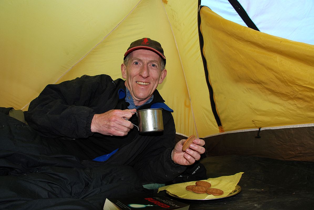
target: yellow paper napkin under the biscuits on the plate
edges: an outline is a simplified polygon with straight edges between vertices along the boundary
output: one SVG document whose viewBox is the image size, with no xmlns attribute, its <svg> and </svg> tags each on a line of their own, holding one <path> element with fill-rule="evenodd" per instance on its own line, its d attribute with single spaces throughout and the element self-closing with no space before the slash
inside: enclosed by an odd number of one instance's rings
<svg viewBox="0 0 314 210">
<path fill-rule="evenodd" d="M 208 195 L 207 193 L 195 193 L 192 191 L 187 191 L 185 189 L 185 187 L 188 185 L 195 185 L 196 181 L 163 186 L 158 189 L 158 192 L 162 190 L 166 190 L 172 195 L 175 195 L 181 198 L 187 198 L 187 199 L 211 199 L 211 198 L 226 197 L 227 195 L 229 195 L 232 191 L 236 189 L 236 185 L 240 181 L 243 173 L 244 172 L 239 172 L 235 175 L 220 176 L 217 178 L 209 178 L 207 180 L 203 180 L 203 181 L 209 182 L 212 185 L 211 188 L 218 188 L 224 191 L 224 194 L 222 194 L 221 196 Z"/>
</svg>

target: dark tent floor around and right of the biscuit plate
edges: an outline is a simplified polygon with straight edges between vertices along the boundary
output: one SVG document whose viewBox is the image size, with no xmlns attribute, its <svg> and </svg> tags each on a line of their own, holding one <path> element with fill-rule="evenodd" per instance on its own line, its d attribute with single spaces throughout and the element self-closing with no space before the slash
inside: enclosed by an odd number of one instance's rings
<svg viewBox="0 0 314 210">
<path fill-rule="evenodd" d="M 285 161 L 252 156 L 213 156 L 201 160 L 208 178 L 244 172 L 235 196 L 208 200 L 179 201 L 190 210 L 313 209 L 314 162 Z M 166 195 L 164 191 L 160 194 Z M 173 198 L 173 197 L 171 197 Z"/>
</svg>

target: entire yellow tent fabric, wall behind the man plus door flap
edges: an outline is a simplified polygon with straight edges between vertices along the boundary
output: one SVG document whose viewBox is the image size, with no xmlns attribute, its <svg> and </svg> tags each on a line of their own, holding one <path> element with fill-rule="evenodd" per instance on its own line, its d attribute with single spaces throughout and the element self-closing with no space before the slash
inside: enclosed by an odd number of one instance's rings
<svg viewBox="0 0 314 210">
<path fill-rule="evenodd" d="M 50 83 L 84 74 L 121 78 L 129 44 L 150 37 L 167 57 L 158 87 L 178 134 L 313 122 L 313 46 L 263 34 L 201 8 L 197 1 L 0 1 L 0 106 L 27 110 Z"/>
</svg>

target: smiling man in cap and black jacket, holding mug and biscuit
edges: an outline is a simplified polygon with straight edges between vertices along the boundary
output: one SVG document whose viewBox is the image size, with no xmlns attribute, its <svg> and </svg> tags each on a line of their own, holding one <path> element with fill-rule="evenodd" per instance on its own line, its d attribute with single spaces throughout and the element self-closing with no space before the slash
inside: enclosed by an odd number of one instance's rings
<svg viewBox="0 0 314 210">
<path fill-rule="evenodd" d="M 204 141 L 194 140 L 191 148 L 185 152 L 181 149 L 184 140 L 173 148 L 175 127 L 170 113 L 172 110 L 163 104 L 164 100 L 156 90 L 167 75 L 165 62 L 164 51 L 159 42 L 149 38 L 136 40 L 127 49 L 124 63 L 121 64 L 125 81 L 113 81 L 107 75 L 85 75 L 73 81 L 48 85 L 30 104 L 27 121 L 43 136 L 76 139 L 71 143 L 64 143 L 64 147 L 81 160 L 109 160 L 119 156 L 118 150 L 128 144 L 143 150 L 140 153 L 128 152 L 129 156 L 139 156 L 147 161 L 146 164 L 167 151 L 171 159 L 163 161 L 169 162 L 170 168 L 180 170 L 171 176 L 165 173 L 163 178 L 174 178 L 185 170 L 181 165 L 190 165 L 200 159 L 200 154 L 204 153 Z M 131 118 L 134 111 L 152 106 L 156 108 L 156 104 L 161 104 L 164 108 L 165 131 L 157 136 L 139 135 L 133 129 L 133 124 L 137 123 L 136 117 Z M 127 121 L 126 118 L 131 120 Z M 130 141 L 140 143 L 129 143 Z M 146 142 L 145 146 L 142 141 Z M 77 151 L 73 151 L 73 148 Z M 154 152 L 145 153 L 144 150 L 149 151 L 149 148 L 153 148 Z M 108 154 L 116 151 L 118 152 L 109 158 Z M 125 161 L 118 162 L 129 164 Z M 132 162 L 132 165 L 136 164 Z M 146 168 L 149 167 L 150 165 Z M 153 180 L 156 173 L 158 174 L 157 171 L 148 170 L 146 173 L 149 175 L 143 176 Z M 167 180 L 156 181 L 164 183 Z"/>
</svg>

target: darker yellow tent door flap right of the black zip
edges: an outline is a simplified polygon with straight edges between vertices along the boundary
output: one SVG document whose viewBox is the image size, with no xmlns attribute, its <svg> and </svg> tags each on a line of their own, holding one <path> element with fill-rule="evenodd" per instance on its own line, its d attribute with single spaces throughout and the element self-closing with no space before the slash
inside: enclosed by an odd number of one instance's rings
<svg viewBox="0 0 314 210">
<path fill-rule="evenodd" d="M 224 131 L 314 122 L 314 46 L 201 10 L 203 52 Z M 205 21 L 203 21 L 205 20 Z"/>
</svg>

